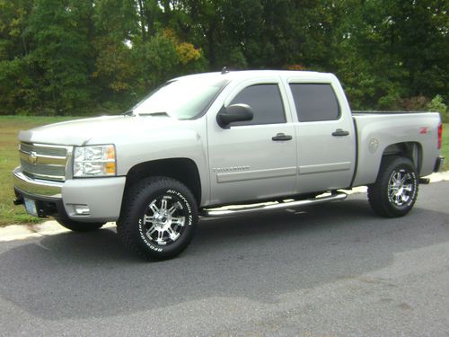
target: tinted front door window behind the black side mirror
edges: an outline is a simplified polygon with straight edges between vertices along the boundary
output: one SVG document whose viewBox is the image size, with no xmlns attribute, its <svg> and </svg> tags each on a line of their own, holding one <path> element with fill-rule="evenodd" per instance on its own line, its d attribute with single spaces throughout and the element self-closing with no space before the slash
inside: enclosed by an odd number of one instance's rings
<svg viewBox="0 0 449 337">
<path fill-rule="evenodd" d="M 231 125 L 259 125 L 285 123 L 284 105 L 277 84 L 256 84 L 244 88 L 234 97 L 231 104 L 248 104 L 254 112 L 249 121 L 234 122 Z"/>
</svg>

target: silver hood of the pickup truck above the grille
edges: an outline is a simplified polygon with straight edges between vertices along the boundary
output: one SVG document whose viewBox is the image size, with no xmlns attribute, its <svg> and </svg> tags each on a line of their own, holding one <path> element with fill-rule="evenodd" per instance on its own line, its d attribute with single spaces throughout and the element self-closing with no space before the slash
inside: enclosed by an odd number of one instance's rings
<svg viewBox="0 0 449 337">
<path fill-rule="evenodd" d="M 105 116 L 70 120 L 19 132 L 19 140 L 28 143 L 83 146 L 112 143 L 113 139 L 138 132 L 179 128 L 181 120 L 163 116 Z"/>
</svg>

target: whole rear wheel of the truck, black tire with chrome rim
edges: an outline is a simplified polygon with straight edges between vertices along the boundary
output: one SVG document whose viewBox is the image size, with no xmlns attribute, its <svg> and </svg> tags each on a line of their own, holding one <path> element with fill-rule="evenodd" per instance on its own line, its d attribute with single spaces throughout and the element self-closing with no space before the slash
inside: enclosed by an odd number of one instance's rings
<svg viewBox="0 0 449 337">
<path fill-rule="evenodd" d="M 368 200 L 374 212 L 383 217 L 403 217 L 418 197 L 415 165 L 401 156 L 384 156 L 377 180 L 368 185 Z"/>
</svg>

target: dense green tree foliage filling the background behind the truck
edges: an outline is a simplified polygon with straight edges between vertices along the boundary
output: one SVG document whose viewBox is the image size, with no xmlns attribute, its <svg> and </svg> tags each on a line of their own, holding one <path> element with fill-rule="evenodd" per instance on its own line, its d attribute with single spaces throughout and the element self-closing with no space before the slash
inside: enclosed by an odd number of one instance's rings
<svg viewBox="0 0 449 337">
<path fill-rule="evenodd" d="M 355 109 L 449 100 L 444 0 L 0 0 L 0 115 L 126 109 L 174 75 L 335 73 Z M 442 101 L 442 102 L 443 102 Z"/>
</svg>

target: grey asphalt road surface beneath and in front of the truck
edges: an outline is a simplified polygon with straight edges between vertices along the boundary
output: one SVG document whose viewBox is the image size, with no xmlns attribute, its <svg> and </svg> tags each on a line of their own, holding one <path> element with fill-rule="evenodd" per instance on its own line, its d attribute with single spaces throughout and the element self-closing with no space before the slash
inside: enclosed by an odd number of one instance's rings
<svg viewBox="0 0 449 337">
<path fill-rule="evenodd" d="M 115 228 L 0 243 L 0 335 L 449 336 L 449 182 L 407 217 L 365 194 L 204 219 L 141 262 Z"/>
</svg>

